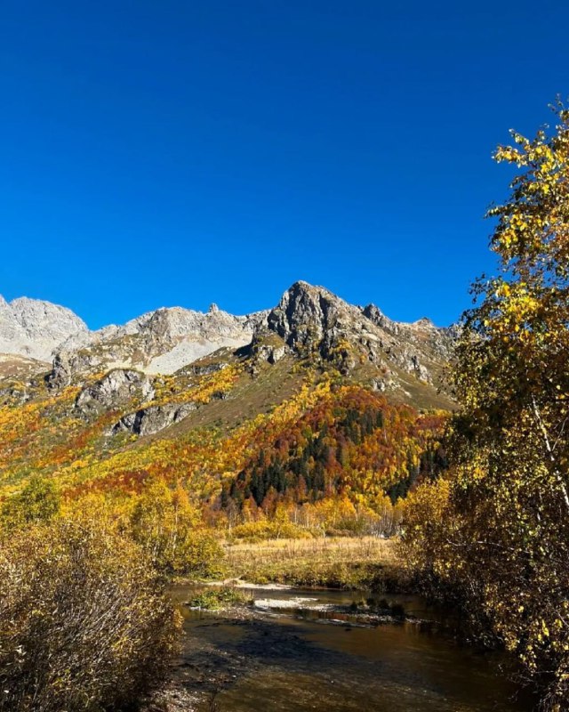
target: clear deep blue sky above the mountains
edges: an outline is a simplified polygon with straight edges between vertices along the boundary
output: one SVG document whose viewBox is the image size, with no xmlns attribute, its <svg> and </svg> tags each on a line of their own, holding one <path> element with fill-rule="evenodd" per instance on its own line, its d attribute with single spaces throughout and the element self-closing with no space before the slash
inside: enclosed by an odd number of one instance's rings
<svg viewBox="0 0 569 712">
<path fill-rule="evenodd" d="M 4 0 L 0 293 L 96 328 L 306 279 L 447 324 L 568 28 L 561 0 Z"/>
</svg>

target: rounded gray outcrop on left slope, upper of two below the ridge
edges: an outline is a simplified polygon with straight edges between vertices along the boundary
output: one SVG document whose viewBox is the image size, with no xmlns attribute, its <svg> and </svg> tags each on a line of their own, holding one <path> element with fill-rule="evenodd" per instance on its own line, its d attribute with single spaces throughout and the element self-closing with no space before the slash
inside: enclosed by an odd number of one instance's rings
<svg viewBox="0 0 569 712">
<path fill-rule="evenodd" d="M 84 388 L 76 397 L 75 406 L 85 417 L 92 417 L 124 405 L 134 397 L 151 401 L 154 394 L 148 376 L 139 371 L 117 369 Z"/>
</svg>

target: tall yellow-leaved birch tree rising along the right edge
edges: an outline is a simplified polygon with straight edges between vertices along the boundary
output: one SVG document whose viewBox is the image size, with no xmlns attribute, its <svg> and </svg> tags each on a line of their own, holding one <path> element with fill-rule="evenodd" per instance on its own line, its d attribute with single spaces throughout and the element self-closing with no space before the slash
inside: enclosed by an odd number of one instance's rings
<svg viewBox="0 0 569 712">
<path fill-rule="evenodd" d="M 407 551 L 458 591 L 569 709 L 569 110 L 554 131 L 512 132 L 494 158 L 517 167 L 494 206 L 499 274 L 463 319 L 453 467 L 411 498 Z M 448 492 L 448 495 L 446 494 Z M 444 495 L 444 502 L 441 499 Z"/>
</svg>

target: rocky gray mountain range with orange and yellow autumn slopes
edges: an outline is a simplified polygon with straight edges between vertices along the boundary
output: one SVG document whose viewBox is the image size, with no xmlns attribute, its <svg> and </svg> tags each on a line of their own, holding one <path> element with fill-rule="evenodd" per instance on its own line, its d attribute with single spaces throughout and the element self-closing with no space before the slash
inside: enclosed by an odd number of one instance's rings
<svg viewBox="0 0 569 712">
<path fill-rule="evenodd" d="M 333 492 L 377 505 L 443 462 L 454 328 L 306 282 L 265 312 L 164 308 L 97 331 L 49 303 L 0 310 L 0 500 L 43 473 L 68 498 L 182 478 L 213 518 Z"/>
</svg>

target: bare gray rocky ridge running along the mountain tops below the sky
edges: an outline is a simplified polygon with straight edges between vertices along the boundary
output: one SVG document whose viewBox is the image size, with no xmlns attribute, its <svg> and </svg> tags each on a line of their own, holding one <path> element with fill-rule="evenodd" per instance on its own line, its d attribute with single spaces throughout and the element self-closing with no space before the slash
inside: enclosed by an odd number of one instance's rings
<svg viewBox="0 0 569 712">
<path fill-rule="evenodd" d="M 345 374 L 371 364 L 374 372 L 365 377 L 378 388 L 400 387 L 405 375 L 438 387 L 456 336 L 456 328 L 437 328 L 426 319 L 390 320 L 374 304 L 354 306 L 307 282 L 293 284 L 267 312 L 233 316 L 214 303 L 206 313 L 164 308 L 93 332 L 63 307 L 0 297 L 0 353 L 24 356 L 39 370 L 52 360 L 47 380 L 56 389 L 109 371 L 168 375 L 221 348 L 245 346 L 256 363 L 276 363 L 292 352 L 333 361 Z M 96 393 L 85 392 L 77 407 L 95 412 L 111 391 L 121 401 L 145 387 L 113 376 Z"/>
</svg>

